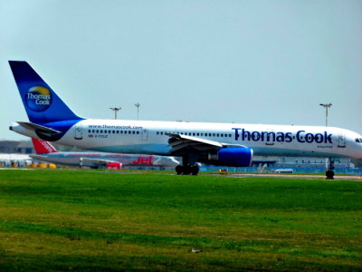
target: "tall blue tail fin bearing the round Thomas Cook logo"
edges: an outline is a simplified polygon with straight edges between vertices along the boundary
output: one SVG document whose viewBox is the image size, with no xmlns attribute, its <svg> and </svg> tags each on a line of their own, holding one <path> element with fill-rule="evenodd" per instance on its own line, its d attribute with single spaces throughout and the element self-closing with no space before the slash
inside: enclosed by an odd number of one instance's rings
<svg viewBox="0 0 362 272">
<path fill-rule="evenodd" d="M 26 62 L 9 61 L 29 121 L 82 120 Z"/>
</svg>

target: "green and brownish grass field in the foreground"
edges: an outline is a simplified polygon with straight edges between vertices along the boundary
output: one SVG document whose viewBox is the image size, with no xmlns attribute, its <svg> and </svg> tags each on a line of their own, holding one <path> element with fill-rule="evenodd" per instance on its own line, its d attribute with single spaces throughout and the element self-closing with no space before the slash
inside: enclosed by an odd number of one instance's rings
<svg viewBox="0 0 362 272">
<path fill-rule="evenodd" d="M 360 271 L 361 222 L 358 181 L 0 170 L 1 271 Z"/>
</svg>

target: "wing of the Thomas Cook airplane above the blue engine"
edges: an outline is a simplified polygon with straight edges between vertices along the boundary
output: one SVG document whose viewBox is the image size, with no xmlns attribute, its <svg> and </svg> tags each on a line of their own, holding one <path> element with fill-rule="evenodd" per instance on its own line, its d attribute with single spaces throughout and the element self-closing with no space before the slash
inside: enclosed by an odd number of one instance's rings
<svg viewBox="0 0 362 272">
<path fill-rule="evenodd" d="M 228 147 L 244 147 L 243 145 L 210 141 L 177 133 L 167 133 L 167 136 L 170 137 L 168 144 L 172 147 L 171 154 L 184 151 L 218 151 Z"/>
</svg>

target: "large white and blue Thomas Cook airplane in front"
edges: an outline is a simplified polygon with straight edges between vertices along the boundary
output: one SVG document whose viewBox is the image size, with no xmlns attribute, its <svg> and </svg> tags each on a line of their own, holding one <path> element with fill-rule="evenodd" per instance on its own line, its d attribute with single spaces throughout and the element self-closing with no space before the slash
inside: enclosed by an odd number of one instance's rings
<svg viewBox="0 0 362 272">
<path fill-rule="evenodd" d="M 197 175 L 197 162 L 247 167 L 252 156 L 362 159 L 362 136 L 336 127 L 97 120 L 80 117 L 24 61 L 9 61 L 29 121 L 11 131 L 91 151 L 182 157 L 177 174 Z"/>
</svg>

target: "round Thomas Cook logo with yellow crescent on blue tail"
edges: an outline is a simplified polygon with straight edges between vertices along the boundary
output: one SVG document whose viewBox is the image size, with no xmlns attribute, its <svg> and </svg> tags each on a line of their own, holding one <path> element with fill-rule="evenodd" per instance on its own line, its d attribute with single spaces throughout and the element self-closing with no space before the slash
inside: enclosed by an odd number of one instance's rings
<svg viewBox="0 0 362 272">
<path fill-rule="evenodd" d="M 34 112 L 44 112 L 52 104 L 52 93 L 43 86 L 34 86 L 25 93 L 25 102 Z"/>
</svg>

